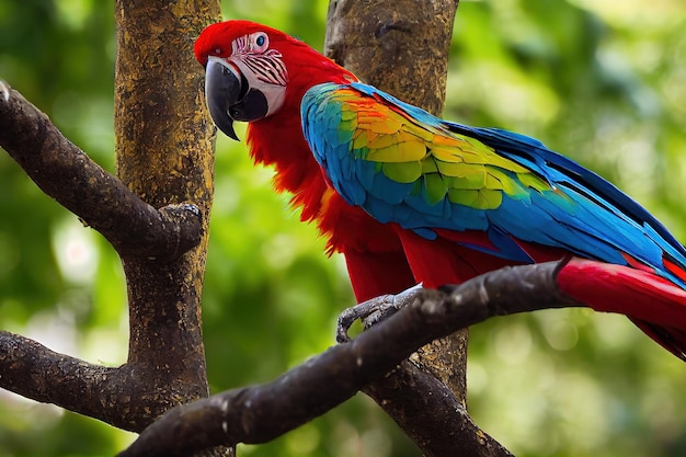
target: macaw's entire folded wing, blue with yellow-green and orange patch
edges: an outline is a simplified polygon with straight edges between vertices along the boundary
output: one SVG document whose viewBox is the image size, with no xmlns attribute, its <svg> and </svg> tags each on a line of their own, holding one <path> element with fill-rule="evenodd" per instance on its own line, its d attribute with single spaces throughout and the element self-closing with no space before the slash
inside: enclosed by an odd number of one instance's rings
<svg viewBox="0 0 686 457">
<path fill-rule="evenodd" d="M 313 87 L 301 117 L 329 182 L 381 222 L 428 239 L 483 231 L 488 243 L 464 244 L 513 262 L 535 261 L 525 247 L 537 243 L 686 279 L 686 252 L 659 221 L 533 138 L 447 123 L 362 83 Z"/>
</svg>

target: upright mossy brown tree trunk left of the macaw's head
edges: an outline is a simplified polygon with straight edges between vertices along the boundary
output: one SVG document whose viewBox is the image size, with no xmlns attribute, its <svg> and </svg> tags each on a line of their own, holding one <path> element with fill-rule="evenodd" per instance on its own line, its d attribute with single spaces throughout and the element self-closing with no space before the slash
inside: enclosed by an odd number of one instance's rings
<svg viewBox="0 0 686 457">
<path fill-rule="evenodd" d="M 205 112 L 203 70 L 193 57 L 193 43 L 218 13 L 217 2 L 202 0 L 115 2 L 117 175 L 153 207 L 192 202 L 203 221 L 199 243 L 171 262 L 122 256 L 129 304 L 128 365 L 155 386 L 138 401 L 148 412 L 146 422 L 208 395 L 201 297 L 215 129 Z"/>
</svg>

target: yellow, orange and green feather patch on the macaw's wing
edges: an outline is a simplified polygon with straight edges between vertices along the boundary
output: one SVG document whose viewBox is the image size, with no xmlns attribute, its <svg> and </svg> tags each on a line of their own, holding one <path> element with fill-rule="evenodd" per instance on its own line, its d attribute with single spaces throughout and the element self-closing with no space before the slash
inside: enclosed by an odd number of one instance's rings
<svg viewBox="0 0 686 457">
<path fill-rule="evenodd" d="M 377 170 L 392 181 L 421 182 L 431 205 L 447 196 L 451 203 L 493 209 L 503 194 L 517 197 L 526 187 L 550 188 L 546 180 L 481 141 L 420 125 L 375 99 L 356 99 L 347 112 L 357 115 L 352 149 L 379 163 Z"/>
</svg>

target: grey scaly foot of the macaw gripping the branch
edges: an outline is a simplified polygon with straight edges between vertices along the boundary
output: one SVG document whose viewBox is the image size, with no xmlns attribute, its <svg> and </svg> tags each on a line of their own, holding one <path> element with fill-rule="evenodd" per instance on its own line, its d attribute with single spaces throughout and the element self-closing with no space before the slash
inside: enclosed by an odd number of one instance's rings
<svg viewBox="0 0 686 457">
<path fill-rule="evenodd" d="M 422 285 L 418 284 L 400 294 L 381 295 L 380 297 L 371 298 L 370 300 L 345 309 L 339 316 L 335 340 L 339 343 L 351 341 L 347 332 L 356 320 L 362 321 L 363 327 L 368 329 L 410 305 L 414 301 L 414 298 L 421 289 Z"/>
</svg>

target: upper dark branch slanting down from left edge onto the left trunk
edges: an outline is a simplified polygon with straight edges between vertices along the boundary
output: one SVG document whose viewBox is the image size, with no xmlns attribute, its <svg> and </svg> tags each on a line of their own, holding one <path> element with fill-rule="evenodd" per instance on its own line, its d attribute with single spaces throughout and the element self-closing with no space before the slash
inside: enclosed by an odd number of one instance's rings
<svg viewBox="0 0 686 457">
<path fill-rule="evenodd" d="M 196 208 L 148 205 L 2 81 L 0 146 L 43 192 L 100 231 L 122 256 L 170 261 L 201 240 Z"/>
</svg>

